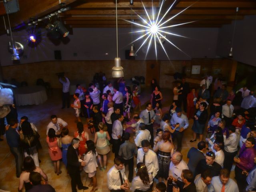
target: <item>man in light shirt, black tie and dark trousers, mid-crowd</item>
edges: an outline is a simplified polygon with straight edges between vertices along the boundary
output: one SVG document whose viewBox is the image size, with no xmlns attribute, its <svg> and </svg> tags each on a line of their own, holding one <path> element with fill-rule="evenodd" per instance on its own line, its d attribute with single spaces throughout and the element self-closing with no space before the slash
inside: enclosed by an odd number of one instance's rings
<svg viewBox="0 0 256 192">
<path fill-rule="evenodd" d="M 150 103 L 146 104 L 146 109 L 140 113 L 140 118 L 143 119 L 146 129 L 150 132 L 150 145 L 154 147 L 154 132 L 153 132 L 153 123 L 156 120 L 156 114 L 152 110 L 152 105 Z"/>
</svg>

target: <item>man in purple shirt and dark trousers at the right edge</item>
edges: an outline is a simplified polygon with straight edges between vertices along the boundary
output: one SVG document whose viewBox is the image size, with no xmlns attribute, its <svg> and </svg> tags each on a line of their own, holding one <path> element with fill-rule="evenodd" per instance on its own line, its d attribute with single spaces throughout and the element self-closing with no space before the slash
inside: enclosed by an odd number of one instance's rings
<svg viewBox="0 0 256 192">
<path fill-rule="evenodd" d="M 243 171 L 250 172 L 254 167 L 254 157 L 256 156 L 254 145 L 255 139 L 253 137 L 247 138 L 240 149 L 238 157 L 234 157 L 234 162 L 236 162 L 235 178 L 239 191 L 243 191 L 246 186 L 246 174 Z"/>
</svg>

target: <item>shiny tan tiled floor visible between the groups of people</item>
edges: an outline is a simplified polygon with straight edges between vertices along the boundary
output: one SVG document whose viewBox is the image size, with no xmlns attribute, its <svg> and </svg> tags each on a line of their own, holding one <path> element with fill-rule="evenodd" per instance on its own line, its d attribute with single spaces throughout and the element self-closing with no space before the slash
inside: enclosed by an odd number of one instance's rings
<svg viewBox="0 0 256 192">
<path fill-rule="evenodd" d="M 172 91 L 171 90 L 162 90 L 163 94 L 163 112 L 167 112 L 170 103 L 172 100 Z M 144 105 L 150 100 L 150 91 L 148 89 L 142 89 L 141 102 Z M 73 100 L 71 100 L 73 102 Z M 142 106 L 144 109 L 144 106 Z M 40 134 L 40 141 L 43 146 L 43 149 L 39 151 L 39 158 L 42 161 L 40 167 L 48 176 L 49 184 L 52 185 L 57 192 L 70 192 L 70 177 L 66 172 L 64 164 L 61 162 L 62 174 L 57 176 L 54 173 L 54 166 L 50 160 L 48 154 L 48 146 L 46 143 L 46 126 L 50 122 L 50 116 L 56 114 L 58 117 L 62 118 L 68 122 L 68 128 L 70 130 L 70 135 L 73 135 L 76 130 L 76 118 L 74 116 L 74 110 L 72 108 L 61 109 L 61 90 L 53 90 L 53 93 L 49 96 L 48 100 L 38 106 L 21 106 L 18 107 L 18 117 L 28 116 L 29 121 L 33 122 L 38 128 Z M 82 118 L 82 122 L 86 124 L 86 119 Z M 193 120 L 190 120 L 190 126 L 185 131 L 184 137 L 182 140 L 182 154 L 183 159 L 186 161 L 186 154 L 188 150 L 194 146 L 196 147 L 196 142 L 190 143 L 189 140 L 192 138 L 192 126 Z M 90 133 L 87 127 L 85 130 L 89 133 L 90 139 L 94 139 L 94 135 Z M 16 178 L 15 170 L 15 160 L 14 156 L 10 153 L 10 149 L 6 143 L 6 138 L 4 136 L 4 141 L 0 142 L 1 153 L 0 153 L 0 189 L 8 190 L 11 192 L 17 191 L 19 179 Z M 108 154 L 108 166 L 106 171 L 97 170 L 97 180 L 98 180 L 98 191 L 107 192 L 107 183 L 106 183 L 106 174 L 107 171 L 113 166 L 114 154 L 110 152 Z M 84 185 L 88 186 L 90 179 L 87 177 L 85 172 L 81 173 L 82 182 Z M 90 189 L 89 189 L 90 190 Z M 86 190 L 86 191 L 89 191 Z M 25 190 L 24 190 L 25 191 Z M 82 190 L 79 190 L 82 191 Z"/>
</svg>

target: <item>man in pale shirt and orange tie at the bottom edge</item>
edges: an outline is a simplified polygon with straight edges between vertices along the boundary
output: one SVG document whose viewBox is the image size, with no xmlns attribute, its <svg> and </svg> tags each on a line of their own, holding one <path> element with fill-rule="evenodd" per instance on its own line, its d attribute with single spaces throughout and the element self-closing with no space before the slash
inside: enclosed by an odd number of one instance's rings
<svg viewBox="0 0 256 192">
<path fill-rule="evenodd" d="M 215 176 L 212 178 L 208 192 L 239 192 L 236 182 L 229 177 L 229 170 L 220 170 L 220 176 Z"/>
</svg>

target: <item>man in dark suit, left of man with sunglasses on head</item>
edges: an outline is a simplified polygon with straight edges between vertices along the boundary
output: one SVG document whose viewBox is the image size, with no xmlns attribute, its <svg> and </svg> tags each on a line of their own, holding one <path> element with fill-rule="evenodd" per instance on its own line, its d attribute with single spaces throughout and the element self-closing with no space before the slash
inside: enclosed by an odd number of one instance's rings
<svg viewBox="0 0 256 192">
<path fill-rule="evenodd" d="M 205 141 L 200 141 L 197 144 L 197 149 L 192 147 L 188 151 L 187 158 L 188 160 L 188 169 L 192 171 L 193 176 L 195 177 L 195 169 L 196 166 L 198 165 L 198 162 L 201 159 L 205 159 L 204 153 L 206 152 L 206 142 Z"/>
</svg>

